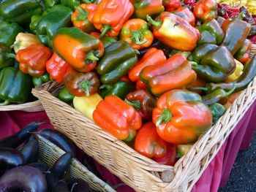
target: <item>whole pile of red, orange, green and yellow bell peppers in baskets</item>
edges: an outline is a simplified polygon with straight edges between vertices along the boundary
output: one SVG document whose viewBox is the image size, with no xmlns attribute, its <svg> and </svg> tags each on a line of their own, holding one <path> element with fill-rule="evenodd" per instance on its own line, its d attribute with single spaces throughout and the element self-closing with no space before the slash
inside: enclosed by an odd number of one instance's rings
<svg viewBox="0 0 256 192">
<path fill-rule="evenodd" d="M 63 83 L 61 101 L 159 164 L 173 166 L 256 74 L 255 23 L 244 8 L 222 18 L 215 0 L 6 0 L 0 15 L 0 105 Z"/>
</svg>

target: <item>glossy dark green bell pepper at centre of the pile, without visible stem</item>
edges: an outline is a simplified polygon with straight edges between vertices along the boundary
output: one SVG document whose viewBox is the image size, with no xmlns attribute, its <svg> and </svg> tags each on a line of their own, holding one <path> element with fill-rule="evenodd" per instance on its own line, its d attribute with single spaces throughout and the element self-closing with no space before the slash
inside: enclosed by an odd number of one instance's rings
<svg viewBox="0 0 256 192">
<path fill-rule="evenodd" d="M 114 42 L 105 48 L 99 60 L 97 73 L 103 84 L 112 84 L 121 79 L 138 61 L 135 51 L 126 41 Z"/>
</svg>

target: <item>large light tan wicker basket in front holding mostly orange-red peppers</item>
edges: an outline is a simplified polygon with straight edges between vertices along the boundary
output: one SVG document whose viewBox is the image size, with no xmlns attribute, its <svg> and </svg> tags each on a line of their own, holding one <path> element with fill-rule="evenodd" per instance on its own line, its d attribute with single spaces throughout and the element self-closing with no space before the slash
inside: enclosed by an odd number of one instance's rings
<svg viewBox="0 0 256 192">
<path fill-rule="evenodd" d="M 252 50 L 255 51 L 255 50 Z M 255 54 L 255 52 L 254 52 Z M 175 166 L 157 164 L 80 112 L 37 88 L 32 93 L 42 102 L 51 123 L 78 147 L 91 155 L 135 191 L 191 191 L 225 139 L 256 99 L 256 77 L 210 130 L 203 134 Z"/>
</svg>

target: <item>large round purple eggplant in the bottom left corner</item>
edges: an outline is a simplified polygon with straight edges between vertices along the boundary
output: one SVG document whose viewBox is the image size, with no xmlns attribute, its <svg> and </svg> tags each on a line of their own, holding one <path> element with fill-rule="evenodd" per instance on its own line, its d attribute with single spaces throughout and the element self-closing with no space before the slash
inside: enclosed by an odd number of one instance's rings
<svg viewBox="0 0 256 192">
<path fill-rule="evenodd" d="M 44 175 L 32 166 L 18 166 L 5 172 L 0 178 L 0 191 L 21 189 L 27 192 L 47 192 Z"/>
</svg>

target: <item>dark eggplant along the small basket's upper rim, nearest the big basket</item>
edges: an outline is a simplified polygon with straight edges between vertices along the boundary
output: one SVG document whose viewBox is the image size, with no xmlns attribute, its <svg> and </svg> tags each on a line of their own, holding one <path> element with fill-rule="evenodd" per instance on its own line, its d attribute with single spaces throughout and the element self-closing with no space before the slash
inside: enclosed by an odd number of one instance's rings
<svg viewBox="0 0 256 192">
<path fill-rule="evenodd" d="M 45 128 L 45 129 L 41 129 L 39 132 L 34 134 L 39 134 L 40 136 L 45 137 L 45 139 L 48 139 L 50 142 L 53 142 L 62 150 L 72 153 L 75 157 L 75 153 L 76 153 L 75 144 L 66 135 L 62 134 L 56 129 L 53 130 L 50 128 Z"/>
</svg>

